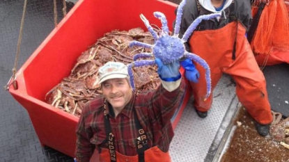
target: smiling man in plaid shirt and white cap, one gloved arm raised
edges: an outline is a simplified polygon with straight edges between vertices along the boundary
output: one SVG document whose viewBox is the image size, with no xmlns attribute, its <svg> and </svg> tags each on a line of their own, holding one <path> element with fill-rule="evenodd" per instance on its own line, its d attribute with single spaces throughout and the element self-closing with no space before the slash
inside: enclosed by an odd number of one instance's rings
<svg viewBox="0 0 289 162">
<path fill-rule="evenodd" d="M 182 102 L 180 63 L 156 58 L 162 85 L 136 95 L 123 63 L 100 67 L 103 94 L 84 107 L 77 126 L 76 161 L 171 161 L 171 118 Z"/>
</svg>

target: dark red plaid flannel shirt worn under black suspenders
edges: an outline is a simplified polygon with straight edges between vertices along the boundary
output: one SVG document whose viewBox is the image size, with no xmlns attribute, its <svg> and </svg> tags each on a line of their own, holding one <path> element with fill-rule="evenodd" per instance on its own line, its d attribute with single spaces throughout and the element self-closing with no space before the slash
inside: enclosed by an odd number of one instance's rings
<svg viewBox="0 0 289 162">
<path fill-rule="evenodd" d="M 185 81 L 169 92 L 159 86 L 157 90 L 141 92 L 133 95 L 130 102 L 115 118 L 107 105 L 111 131 L 115 136 L 116 151 L 126 156 L 135 156 L 136 138 L 139 136 L 132 108 L 135 108 L 139 122 L 146 131 L 150 147 L 157 145 L 163 152 L 169 151 L 169 144 L 173 138 L 171 118 L 180 106 L 185 93 Z M 108 103 L 107 103 L 108 104 Z M 78 162 L 89 161 L 95 148 L 108 148 L 104 127 L 104 97 L 101 95 L 84 107 L 77 125 Z"/>
</svg>

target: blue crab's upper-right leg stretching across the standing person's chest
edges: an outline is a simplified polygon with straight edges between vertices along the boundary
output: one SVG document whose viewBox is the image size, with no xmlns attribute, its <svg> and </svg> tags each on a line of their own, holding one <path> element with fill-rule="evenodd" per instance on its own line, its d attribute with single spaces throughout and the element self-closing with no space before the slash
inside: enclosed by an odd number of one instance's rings
<svg viewBox="0 0 289 162">
<path fill-rule="evenodd" d="M 202 20 L 208 20 L 208 19 L 212 19 L 212 18 L 215 18 L 215 17 L 219 17 L 219 16 L 221 16 L 221 13 L 211 13 L 211 14 L 208 14 L 208 15 L 201 15 L 201 16 L 197 17 L 194 20 L 194 22 L 191 25 L 189 25 L 189 28 L 187 29 L 187 31 L 182 36 L 182 41 L 183 42 L 187 42 L 187 39 L 189 39 L 189 36 L 196 29 L 196 26 L 198 26 L 198 24 L 200 24 L 202 22 Z"/>
</svg>

